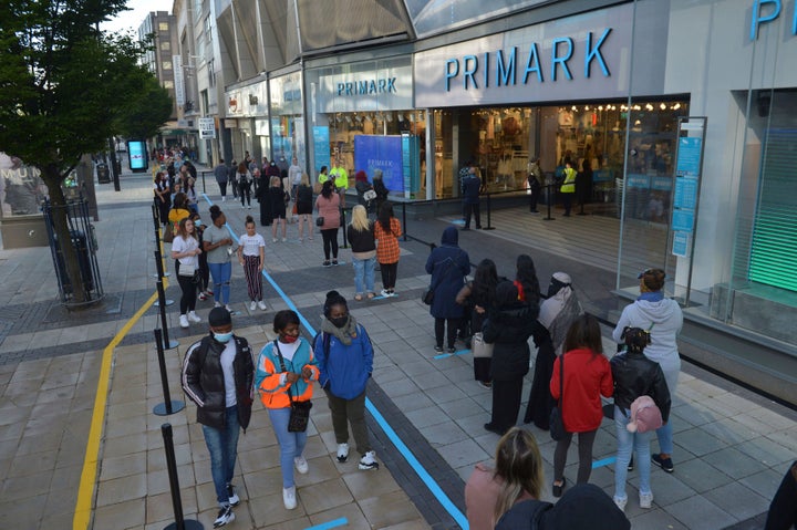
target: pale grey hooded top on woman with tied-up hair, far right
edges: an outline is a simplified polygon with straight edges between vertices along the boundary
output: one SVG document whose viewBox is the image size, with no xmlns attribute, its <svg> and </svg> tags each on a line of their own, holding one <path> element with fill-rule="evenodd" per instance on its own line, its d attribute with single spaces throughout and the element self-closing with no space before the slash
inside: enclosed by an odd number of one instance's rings
<svg viewBox="0 0 797 530">
<path fill-rule="evenodd" d="M 677 302 L 665 298 L 654 302 L 636 300 L 627 305 L 612 332 L 618 344 L 622 343 L 622 331 L 627 326 L 650 332 L 651 343 L 644 350 L 645 357 L 659 363 L 664 372 L 680 370 L 676 336 L 683 326 L 683 312 Z"/>
</svg>

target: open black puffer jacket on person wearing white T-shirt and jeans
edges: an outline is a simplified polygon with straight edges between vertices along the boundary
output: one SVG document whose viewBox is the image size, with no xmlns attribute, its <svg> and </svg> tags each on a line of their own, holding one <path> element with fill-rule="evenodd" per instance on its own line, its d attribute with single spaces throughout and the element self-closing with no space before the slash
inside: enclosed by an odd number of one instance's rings
<svg viewBox="0 0 797 530">
<path fill-rule="evenodd" d="M 251 418 L 251 406 L 255 398 L 252 386 L 255 364 L 247 340 L 235 335 L 230 340 L 235 341 L 236 346 L 232 372 L 238 402 L 238 423 L 246 430 Z M 210 335 L 195 342 L 188 347 L 183 360 L 180 377 L 186 395 L 197 404 L 197 422 L 217 429 L 225 427 L 225 409 L 227 408 L 221 368 L 221 353 L 226 347 L 227 344 L 218 342 Z"/>
</svg>

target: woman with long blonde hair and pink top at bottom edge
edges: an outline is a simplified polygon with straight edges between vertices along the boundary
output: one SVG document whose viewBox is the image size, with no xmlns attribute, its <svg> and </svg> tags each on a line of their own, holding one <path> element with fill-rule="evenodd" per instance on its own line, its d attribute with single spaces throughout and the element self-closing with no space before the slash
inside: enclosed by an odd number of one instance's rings
<svg viewBox="0 0 797 530">
<path fill-rule="evenodd" d="M 470 530 L 491 530 L 516 502 L 539 499 L 542 491 L 542 456 L 531 433 L 507 430 L 498 440 L 495 464 L 477 464 L 465 485 Z"/>
</svg>

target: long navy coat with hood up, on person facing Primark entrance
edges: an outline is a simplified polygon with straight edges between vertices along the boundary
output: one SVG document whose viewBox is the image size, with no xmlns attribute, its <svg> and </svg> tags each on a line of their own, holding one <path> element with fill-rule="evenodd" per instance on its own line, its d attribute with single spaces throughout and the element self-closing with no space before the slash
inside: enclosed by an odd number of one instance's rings
<svg viewBox="0 0 797 530">
<path fill-rule="evenodd" d="M 435 319 L 459 319 L 464 314 L 464 308 L 456 303 L 456 295 L 470 273 L 470 257 L 457 246 L 458 241 L 457 229 L 446 228 L 441 246 L 426 260 L 426 272 L 432 274 L 429 285 L 435 293 L 429 313 Z"/>
</svg>

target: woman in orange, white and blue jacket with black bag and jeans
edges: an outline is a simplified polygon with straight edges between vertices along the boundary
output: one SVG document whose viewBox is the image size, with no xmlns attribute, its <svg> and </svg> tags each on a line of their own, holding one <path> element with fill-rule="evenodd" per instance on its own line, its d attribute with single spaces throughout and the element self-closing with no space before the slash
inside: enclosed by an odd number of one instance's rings
<svg viewBox="0 0 797 530">
<path fill-rule="evenodd" d="M 319 370 L 310 343 L 299 336 L 299 315 L 296 312 L 279 311 L 275 315 L 273 331 L 278 339 L 260 351 L 255 387 L 269 413 L 280 446 L 282 502 L 286 509 L 292 510 L 297 507 L 293 467 L 304 475 L 308 472 L 308 463 L 302 456 L 307 432 L 288 432 L 291 401 L 307 402 L 312 398 L 312 382 L 318 381 Z"/>
</svg>

